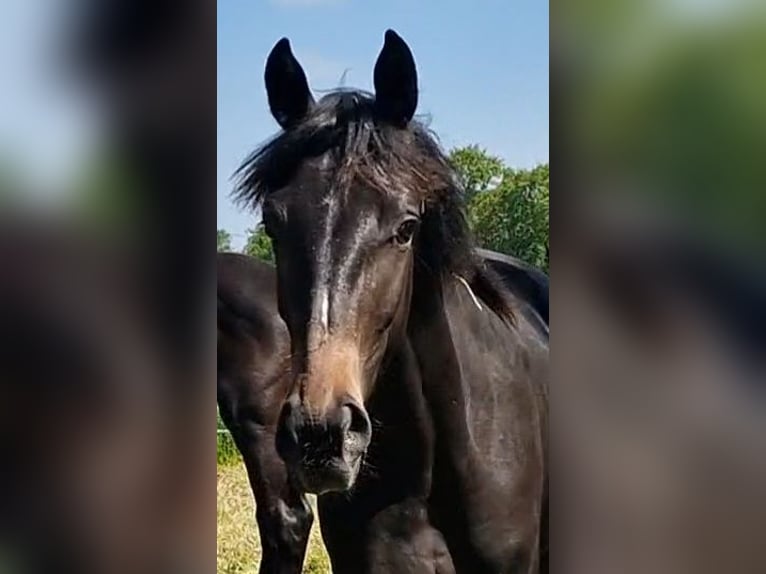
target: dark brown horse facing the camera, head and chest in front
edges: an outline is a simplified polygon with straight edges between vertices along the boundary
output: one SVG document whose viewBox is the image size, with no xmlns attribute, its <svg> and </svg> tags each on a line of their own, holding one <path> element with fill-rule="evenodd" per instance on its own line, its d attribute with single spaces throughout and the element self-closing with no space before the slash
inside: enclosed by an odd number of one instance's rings
<svg viewBox="0 0 766 574">
<path fill-rule="evenodd" d="M 333 572 L 544 569 L 547 340 L 473 251 L 409 46 L 387 30 L 374 93 L 315 101 L 282 38 L 265 83 L 282 130 L 235 195 L 274 245 L 276 451 L 318 495 Z"/>
</svg>

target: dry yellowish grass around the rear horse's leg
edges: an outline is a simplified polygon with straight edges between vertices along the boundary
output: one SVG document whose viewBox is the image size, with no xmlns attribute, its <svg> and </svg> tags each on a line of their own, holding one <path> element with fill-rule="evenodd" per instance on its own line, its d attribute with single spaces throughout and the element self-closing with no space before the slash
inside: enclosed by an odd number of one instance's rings
<svg viewBox="0 0 766 574">
<path fill-rule="evenodd" d="M 257 574 L 261 558 L 255 503 L 247 472 L 239 453 L 221 456 L 219 435 L 218 465 L 218 574 Z M 224 447 L 226 448 L 226 447 Z M 310 497 L 316 516 L 316 499 Z M 319 534 L 319 521 L 314 520 L 309 539 L 305 574 L 330 574 L 330 560 Z"/>
</svg>

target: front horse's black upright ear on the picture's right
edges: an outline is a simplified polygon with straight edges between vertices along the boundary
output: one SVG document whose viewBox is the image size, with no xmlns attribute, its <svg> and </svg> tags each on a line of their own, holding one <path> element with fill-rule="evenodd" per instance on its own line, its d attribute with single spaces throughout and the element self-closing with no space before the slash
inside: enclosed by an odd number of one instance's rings
<svg viewBox="0 0 766 574">
<path fill-rule="evenodd" d="M 418 73 L 409 46 L 393 30 L 386 30 L 373 80 L 378 118 L 405 127 L 418 106 Z"/>
</svg>

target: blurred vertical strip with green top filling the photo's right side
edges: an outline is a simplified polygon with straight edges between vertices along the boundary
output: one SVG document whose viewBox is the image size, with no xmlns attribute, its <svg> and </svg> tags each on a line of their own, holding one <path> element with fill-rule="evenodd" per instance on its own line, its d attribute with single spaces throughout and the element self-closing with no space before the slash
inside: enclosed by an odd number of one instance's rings
<svg viewBox="0 0 766 574">
<path fill-rule="evenodd" d="M 552 10 L 562 572 L 766 571 L 765 16 Z"/>
</svg>

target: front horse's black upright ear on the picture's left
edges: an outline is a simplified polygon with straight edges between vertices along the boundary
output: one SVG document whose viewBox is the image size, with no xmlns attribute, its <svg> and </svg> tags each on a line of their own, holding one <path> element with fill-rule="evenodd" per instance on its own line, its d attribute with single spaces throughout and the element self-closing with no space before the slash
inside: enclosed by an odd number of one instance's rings
<svg viewBox="0 0 766 574">
<path fill-rule="evenodd" d="M 282 129 L 299 123 L 314 104 L 314 97 L 287 38 L 282 38 L 271 49 L 264 79 L 271 115 L 277 123 Z"/>
</svg>

